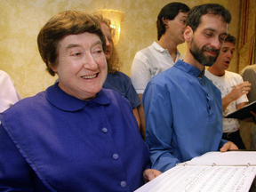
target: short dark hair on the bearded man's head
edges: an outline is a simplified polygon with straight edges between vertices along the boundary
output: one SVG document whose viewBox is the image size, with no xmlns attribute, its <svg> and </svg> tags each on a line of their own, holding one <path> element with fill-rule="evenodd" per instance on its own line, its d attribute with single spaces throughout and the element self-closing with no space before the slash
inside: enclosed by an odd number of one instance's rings
<svg viewBox="0 0 256 192">
<path fill-rule="evenodd" d="M 196 30 L 201 22 L 201 17 L 205 14 L 212 14 L 221 16 L 222 20 L 230 23 L 231 14 L 220 4 L 201 4 L 193 7 L 190 12 L 188 12 L 187 26 Z"/>
</svg>

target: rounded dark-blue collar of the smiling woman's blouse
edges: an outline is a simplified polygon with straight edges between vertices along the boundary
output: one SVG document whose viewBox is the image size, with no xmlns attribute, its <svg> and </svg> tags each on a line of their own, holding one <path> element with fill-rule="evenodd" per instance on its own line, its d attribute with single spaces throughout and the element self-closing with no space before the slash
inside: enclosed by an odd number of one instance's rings
<svg viewBox="0 0 256 192">
<path fill-rule="evenodd" d="M 56 108 L 66 111 L 80 110 L 90 103 L 108 105 L 111 101 L 104 89 L 101 89 L 100 92 L 96 94 L 96 97 L 92 100 L 79 100 L 69 95 L 67 92 L 63 92 L 58 83 L 48 87 L 45 93 L 46 100 L 52 103 L 52 105 L 54 105 Z"/>
</svg>

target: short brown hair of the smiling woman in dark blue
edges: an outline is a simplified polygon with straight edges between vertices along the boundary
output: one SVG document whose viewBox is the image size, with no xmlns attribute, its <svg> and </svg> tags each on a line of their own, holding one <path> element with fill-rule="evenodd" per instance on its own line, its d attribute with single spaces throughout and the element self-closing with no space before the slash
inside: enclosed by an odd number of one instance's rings
<svg viewBox="0 0 256 192">
<path fill-rule="evenodd" d="M 53 16 L 37 36 L 38 49 L 47 71 L 55 76 L 52 67 L 56 66 L 58 59 L 58 45 L 60 40 L 68 35 L 77 35 L 84 32 L 96 34 L 100 37 L 103 51 L 106 49 L 106 40 L 100 23 L 92 15 L 85 12 L 66 11 Z"/>
</svg>

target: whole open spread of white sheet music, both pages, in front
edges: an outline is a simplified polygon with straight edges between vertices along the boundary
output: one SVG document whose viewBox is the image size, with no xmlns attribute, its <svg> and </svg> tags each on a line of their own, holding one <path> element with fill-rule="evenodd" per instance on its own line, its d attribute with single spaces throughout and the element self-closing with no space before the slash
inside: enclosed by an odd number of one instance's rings
<svg viewBox="0 0 256 192">
<path fill-rule="evenodd" d="M 135 192 L 247 192 L 256 175 L 256 152 L 208 152 L 185 164 L 162 173 Z"/>
</svg>

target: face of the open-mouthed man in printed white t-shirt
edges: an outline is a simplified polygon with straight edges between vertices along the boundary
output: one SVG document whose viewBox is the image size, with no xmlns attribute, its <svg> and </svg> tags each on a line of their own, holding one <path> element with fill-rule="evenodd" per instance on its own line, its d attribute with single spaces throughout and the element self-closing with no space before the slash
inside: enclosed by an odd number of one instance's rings
<svg viewBox="0 0 256 192">
<path fill-rule="evenodd" d="M 233 58 L 233 53 L 235 52 L 235 44 L 230 42 L 224 42 L 220 55 L 214 63 L 214 67 L 219 68 L 220 70 L 227 70 L 230 64 L 230 61 Z"/>
</svg>

